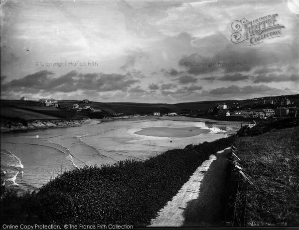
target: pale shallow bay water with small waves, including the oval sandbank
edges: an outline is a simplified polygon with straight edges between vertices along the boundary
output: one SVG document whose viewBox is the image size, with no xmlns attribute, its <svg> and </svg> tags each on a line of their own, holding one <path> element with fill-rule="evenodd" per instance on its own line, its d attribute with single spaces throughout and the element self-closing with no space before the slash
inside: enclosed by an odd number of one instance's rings
<svg viewBox="0 0 299 230">
<path fill-rule="evenodd" d="M 226 137 L 239 128 L 240 122 L 139 117 L 2 133 L 1 182 L 21 193 L 76 167 L 145 160 L 168 149 Z"/>
</svg>

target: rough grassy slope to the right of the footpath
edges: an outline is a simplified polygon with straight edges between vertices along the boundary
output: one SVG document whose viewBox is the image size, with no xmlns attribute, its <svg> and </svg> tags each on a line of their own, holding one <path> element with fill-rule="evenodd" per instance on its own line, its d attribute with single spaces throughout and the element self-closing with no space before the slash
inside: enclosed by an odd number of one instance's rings
<svg viewBox="0 0 299 230">
<path fill-rule="evenodd" d="M 299 127 L 242 137 L 233 174 L 236 226 L 299 226 Z"/>
</svg>

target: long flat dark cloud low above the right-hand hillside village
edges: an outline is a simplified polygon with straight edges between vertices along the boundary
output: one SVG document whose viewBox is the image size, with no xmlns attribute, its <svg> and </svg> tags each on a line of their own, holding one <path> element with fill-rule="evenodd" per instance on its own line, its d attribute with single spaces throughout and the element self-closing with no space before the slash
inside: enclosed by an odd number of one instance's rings
<svg viewBox="0 0 299 230">
<path fill-rule="evenodd" d="M 248 94 L 256 94 L 256 93 L 264 94 L 269 92 L 281 93 L 285 91 L 276 88 L 271 88 L 265 85 L 245 86 L 245 87 L 232 85 L 228 87 L 213 89 L 209 93 L 212 95 L 248 95 Z"/>
</svg>

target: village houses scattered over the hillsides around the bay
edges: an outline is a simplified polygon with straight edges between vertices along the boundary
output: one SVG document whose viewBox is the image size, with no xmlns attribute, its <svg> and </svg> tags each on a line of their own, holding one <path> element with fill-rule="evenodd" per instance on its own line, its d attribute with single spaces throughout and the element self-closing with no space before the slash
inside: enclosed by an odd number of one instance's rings
<svg viewBox="0 0 299 230">
<path fill-rule="evenodd" d="M 23 96 L 20 101 L 29 101 L 26 96 Z M 42 106 L 53 107 L 53 108 L 63 108 L 67 110 L 71 110 L 77 112 L 78 114 L 86 114 L 86 113 L 95 113 L 95 112 L 103 112 L 99 108 L 91 107 L 92 102 L 88 99 L 84 99 L 82 101 L 75 101 L 73 104 L 65 104 L 59 103 L 58 100 L 55 99 L 39 99 L 39 103 Z M 212 103 L 212 102 L 211 102 Z M 63 105 L 62 105 L 63 104 Z M 83 104 L 83 105 L 82 105 Z M 88 105 L 89 104 L 89 105 Z M 200 117 L 200 116 L 230 116 L 230 117 L 245 117 L 245 118 L 260 118 L 266 119 L 269 117 L 282 117 L 282 116 L 297 116 L 299 108 L 298 102 L 292 102 L 287 97 L 274 97 L 274 98 L 257 98 L 250 99 L 249 102 L 244 103 L 243 101 L 228 101 L 227 103 L 216 103 L 214 107 L 209 107 L 205 109 L 184 109 L 179 112 L 174 111 L 149 111 L 143 114 L 136 114 L 130 112 L 125 113 L 120 111 L 120 113 L 112 113 L 111 116 L 143 116 L 143 115 L 153 115 L 153 116 L 192 116 L 192 117 Z"/>
</svg>

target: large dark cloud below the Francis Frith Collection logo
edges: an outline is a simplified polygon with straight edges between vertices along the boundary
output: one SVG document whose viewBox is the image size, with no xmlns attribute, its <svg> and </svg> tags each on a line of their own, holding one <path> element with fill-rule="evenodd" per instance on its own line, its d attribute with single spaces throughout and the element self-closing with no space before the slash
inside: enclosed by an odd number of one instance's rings
<svg viewBox="0 0 299 230">
<path fill-rule="evenodd" d="M 270 71 L 273 68 L 268 69 L 268 65 L 280 65 L 285 63 L 285 60 L 298 60 L 298 57 L 291 53 L 281 54 L 275 50 L 263 52 L 259 47 L 240 48 L 227 46 L 215 53 L 211 58 L 198 53 L 182 56 L 178 61 L 178 65 L 184 67 L 189 74 L 200 75 L 217 70 L 222 70 L 225 73 L 248 72 L 256 67 L 260 68 L 258 71 L 261 72 Z M 261 67 L 264 70 L 261 70 Z"/>
</svg>

